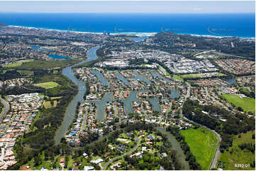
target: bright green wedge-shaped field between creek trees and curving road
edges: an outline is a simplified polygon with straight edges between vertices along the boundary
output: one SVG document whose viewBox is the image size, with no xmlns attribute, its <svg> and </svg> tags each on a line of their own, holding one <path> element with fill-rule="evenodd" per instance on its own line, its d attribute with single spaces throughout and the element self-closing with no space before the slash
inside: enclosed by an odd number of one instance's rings
<svg viewBox="0 0 256 171">
<path fill-rule="evenodd" d="M 218 143 L 216 135 L 204 128 L 182 130 L 180 133 L 185 137 L 201 169 L 208 170 Z"/>
</svg>

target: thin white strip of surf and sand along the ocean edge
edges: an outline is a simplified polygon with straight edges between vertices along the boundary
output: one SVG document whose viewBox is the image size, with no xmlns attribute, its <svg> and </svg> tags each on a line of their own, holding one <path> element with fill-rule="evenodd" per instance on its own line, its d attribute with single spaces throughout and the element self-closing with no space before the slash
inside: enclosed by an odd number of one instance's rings
<svg viewBox="0 0 256 171">
<path fill-rule="evenodd" d="M 26 27 L 26 26 L 20 26 L 20 25 L 7 25 L 9 27 L 15 27 L 15 28 L 27 28 L 27 29 L 40 29 L 40 30 L 52 30 L 52 31 L 59 31 L 59 32 L 72 32 L 72 33 L 79 33 L 79 34 L 96 34 L 96 35 L 103 35 L 104 33 L 97 33 L 97 32 L 81 32 L 81 31 L 68 31 L 68 30 L 57 30 L 57 29 L 50 29 L 50 28 L 33 28 L 33 27 Z M 139 37 L 142 36 L 153 36 L 156 35 L 157 33 L 110 33 L 111 35 L 136 35 Z M 231 36 L 231 35 L 226 35 L 226 36 L 217 36 L 217 35 L 194 35 L 194 34 L 189 34 L 189 33 L 174 33 L 177 35 L 191 35 L 191 36 L 196 36 L 196 37 L 213 37 L 213 38 L 223 38 L 223 37 L 237 37 L 237 36 Z M 238 37 L 240 39 L 254 39 L 255 37 Z"/>
</svg>

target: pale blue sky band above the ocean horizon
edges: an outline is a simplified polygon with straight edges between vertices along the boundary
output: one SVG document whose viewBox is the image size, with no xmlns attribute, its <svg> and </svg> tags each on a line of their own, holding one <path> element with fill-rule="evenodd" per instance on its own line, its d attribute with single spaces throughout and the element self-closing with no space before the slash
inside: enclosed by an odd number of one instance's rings
<svg viewBox="0 0 256 171">
<path fill-rule="evenodd" d="M 0 1 L 18 13 L 255 13 L 255 1 Z"/>
</svg>

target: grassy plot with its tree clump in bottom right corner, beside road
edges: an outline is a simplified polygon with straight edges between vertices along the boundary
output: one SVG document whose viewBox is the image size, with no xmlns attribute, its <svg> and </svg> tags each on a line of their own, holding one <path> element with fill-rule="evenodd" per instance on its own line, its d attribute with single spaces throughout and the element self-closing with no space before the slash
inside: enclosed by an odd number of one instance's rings
<svg viewBox="0 0 256 171">
<path fill-rule="evenodd" d="M 221 153 L 218 167 L 225 170 L 255 170 L 255 131 L 248 131 L 233 138 L 232 146 Z M 235 167 L 235 164 L 243 164 L 244 167 Z"/>
</svg>

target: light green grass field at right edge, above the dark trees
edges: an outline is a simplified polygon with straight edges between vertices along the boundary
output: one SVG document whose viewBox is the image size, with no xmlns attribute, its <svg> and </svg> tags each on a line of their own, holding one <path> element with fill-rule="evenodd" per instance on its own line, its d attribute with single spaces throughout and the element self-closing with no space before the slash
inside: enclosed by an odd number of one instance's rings
<svg viewBox="0 0 256 171">
<path fill-rule="evenodd" d="M 255 114 L 255 99 L 254 98 L 240 98 L 238 95 L 225 94 L 223 98 L 235 107 L 242 107 L 245 112 L 252 112 Z"/>
</svg>

